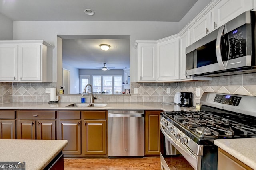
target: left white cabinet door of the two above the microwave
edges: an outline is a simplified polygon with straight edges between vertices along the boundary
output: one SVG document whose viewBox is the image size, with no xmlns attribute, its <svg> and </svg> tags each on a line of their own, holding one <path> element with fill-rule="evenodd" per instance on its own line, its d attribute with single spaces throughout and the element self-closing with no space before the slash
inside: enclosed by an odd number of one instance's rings
<svg viewBox="0 0 256 170">
<path fill-rule="evenodd" d="M 190 43 L 194 43 L 212 31 L 210 12 L 200 18 L 190 28 Z"/>
</svg>

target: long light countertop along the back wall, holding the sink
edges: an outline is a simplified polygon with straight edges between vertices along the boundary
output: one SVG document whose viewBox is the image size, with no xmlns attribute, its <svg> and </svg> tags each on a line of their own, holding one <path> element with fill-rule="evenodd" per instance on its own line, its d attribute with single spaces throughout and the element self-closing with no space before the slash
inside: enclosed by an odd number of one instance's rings
<svg viewBox="0 0 256 170">
<path fill-rule="evenodd" d="M 105 107 L 66 107 L 72 103 L 26 103 L 26 102 L 10 102 L 0 104 L 0 109 L 26 109 L 26 110 L 164 110 L 164 111 L 180 111 L 180 110 L 196 110 L 195 107 L 180 107 L 176 104 L 161 104 L 157 102 L 110 102 Z"/>
</svg>

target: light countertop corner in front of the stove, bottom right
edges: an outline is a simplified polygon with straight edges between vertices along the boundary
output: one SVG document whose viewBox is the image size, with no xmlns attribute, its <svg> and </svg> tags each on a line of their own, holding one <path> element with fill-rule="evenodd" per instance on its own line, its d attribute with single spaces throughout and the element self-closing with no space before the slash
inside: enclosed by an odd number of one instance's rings
<svg viewBox="0 0 256 170">
<path fill-rule="evenodd" d="M 214 144 L 252 169 L 256 169 L 256 137 L 217 139 L 214 140 Z"/>
</svg>

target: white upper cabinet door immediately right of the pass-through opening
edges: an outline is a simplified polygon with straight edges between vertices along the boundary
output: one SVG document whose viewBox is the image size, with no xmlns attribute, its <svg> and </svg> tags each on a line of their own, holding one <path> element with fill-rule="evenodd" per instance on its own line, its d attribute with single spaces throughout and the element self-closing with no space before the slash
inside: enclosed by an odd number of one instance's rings
<svg viewBox="0 0 256 170">
<path fill-rule="evenodd" d="M 138 43 L 137 45 L 137 81 L 156 80 L 156 45 Z"/>
</svg>

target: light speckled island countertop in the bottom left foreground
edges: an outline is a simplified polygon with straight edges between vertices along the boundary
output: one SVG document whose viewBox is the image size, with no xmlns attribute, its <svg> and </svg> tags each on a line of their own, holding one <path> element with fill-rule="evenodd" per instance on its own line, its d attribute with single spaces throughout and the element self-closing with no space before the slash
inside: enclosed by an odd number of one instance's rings
<svg viewBox="0 0 256 170">
<path fill-rule="evenodd" d="M 26 170 L 41 170 L 67 144 L 67 140 L 0 139 L 0 161 L 25 162 Z"/>
</svg>

